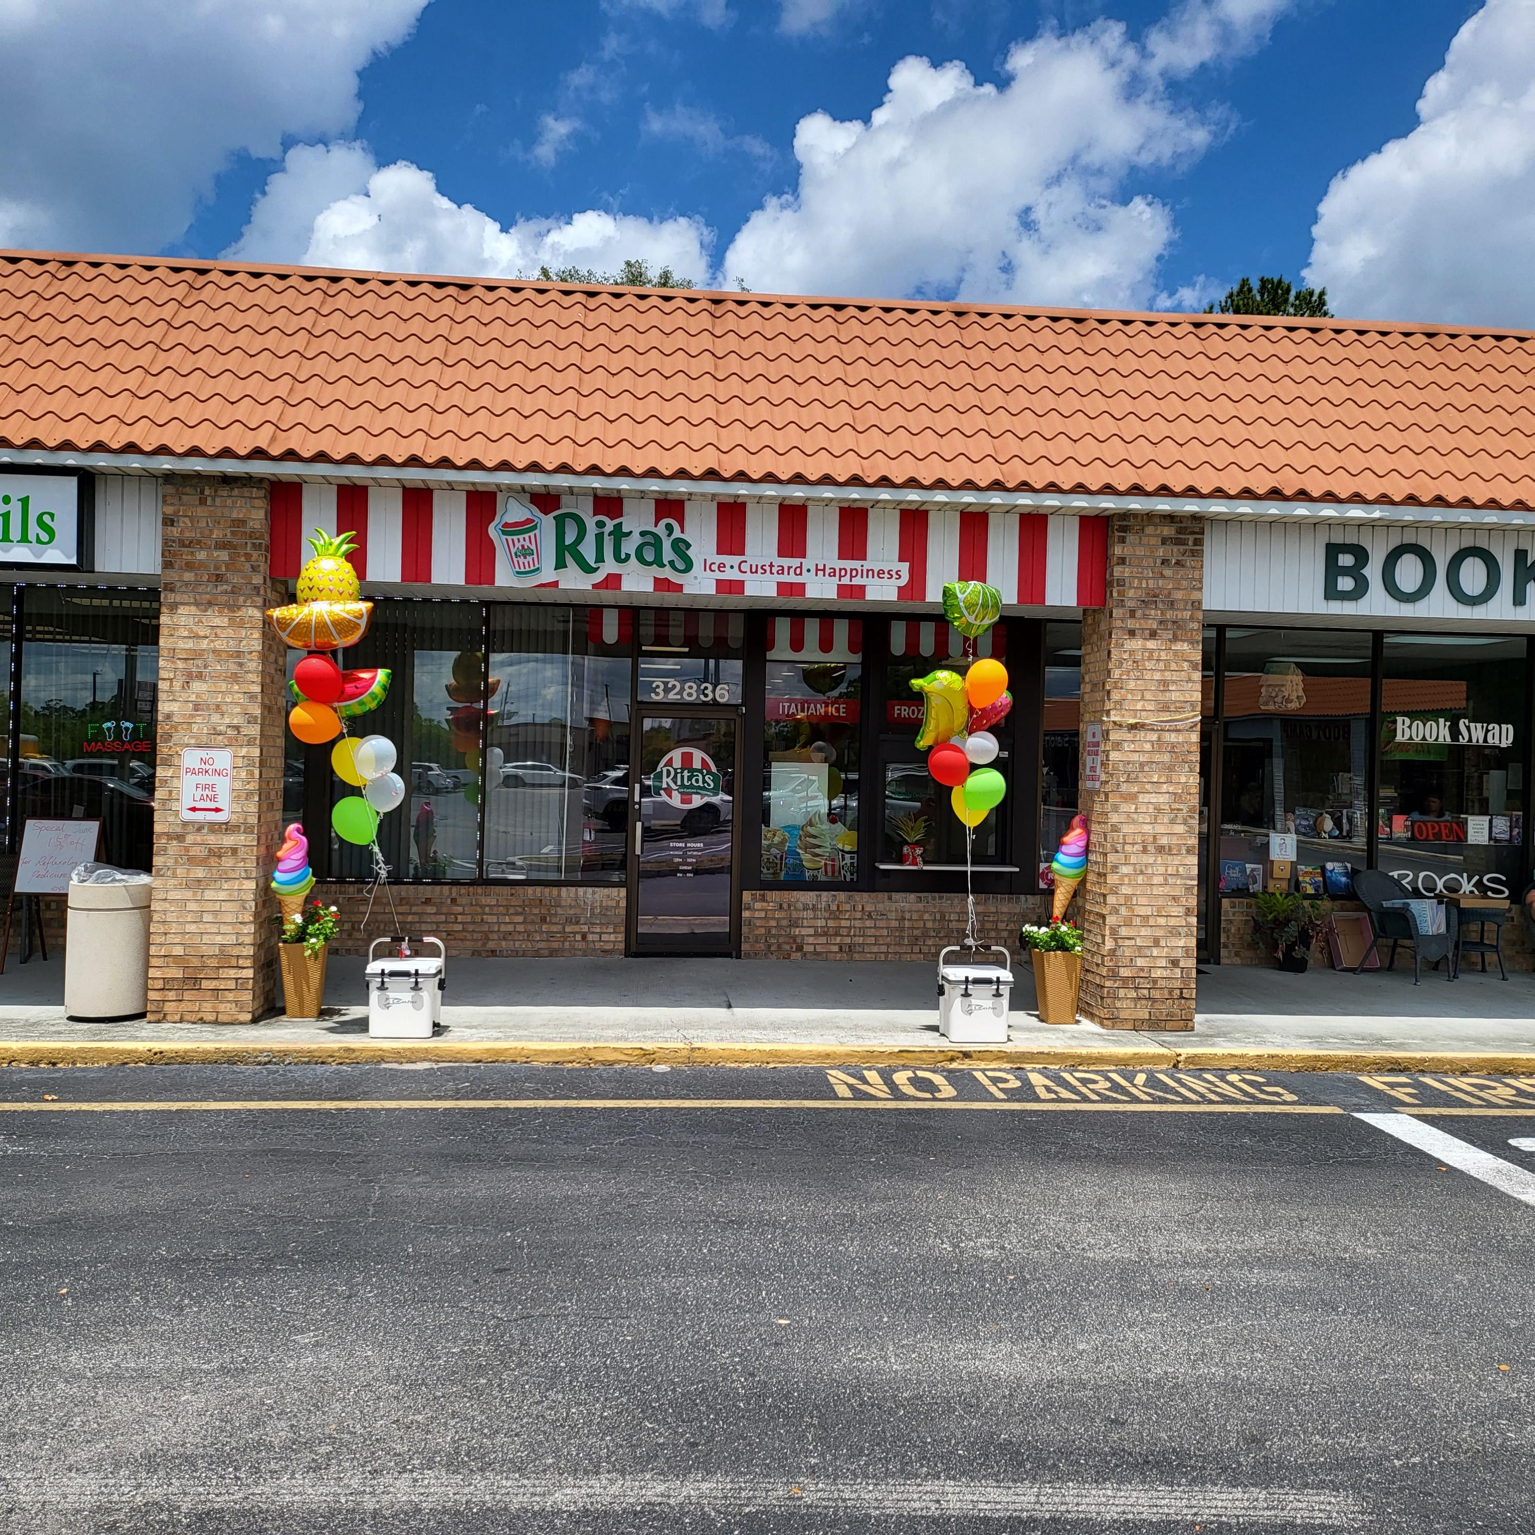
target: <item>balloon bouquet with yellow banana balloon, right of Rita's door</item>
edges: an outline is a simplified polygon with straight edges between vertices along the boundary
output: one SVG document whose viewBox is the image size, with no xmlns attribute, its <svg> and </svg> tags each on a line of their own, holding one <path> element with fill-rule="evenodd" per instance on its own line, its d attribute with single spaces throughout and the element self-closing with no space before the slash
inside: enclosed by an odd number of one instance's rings
<svg viewBox="0 0 1535 1535">
<path fill-rule="evenodd" d="M 970 893 L 975 829 L 1007 795 L 1007 780 L 990 766 L 1001 746 L 992 734 L 1013 708 L 1007 691 L 1007 668 L 976 655 L 976 640 L 1002 612 L 1002 594 L 984 582 L 961 580 L 944 586 L 944 617 L 964 640 L 964 672 L 947 666 L 916 677 L 913 691 L 923 695 L 923 728 L 916 744 L 927 752 L 927 771 L 949 789 L 949 803 L 964 823 L 966 896 L 969 924 L 966 946 L 978 947 L 975 896 Z"/>
</svg>

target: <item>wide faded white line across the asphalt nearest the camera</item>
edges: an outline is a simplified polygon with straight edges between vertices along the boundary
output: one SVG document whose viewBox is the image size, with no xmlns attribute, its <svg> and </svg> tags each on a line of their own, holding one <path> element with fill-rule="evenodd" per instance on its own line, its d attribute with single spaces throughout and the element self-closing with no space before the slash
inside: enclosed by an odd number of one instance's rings
<svg viewBox="0 0 1535 1535">
<path fill-rule="evenodd" d="M 430 1514 L 496 1509 L 525 1514 L 806 1512 L 901 1520 L 1090 1520 L 1102 1524 L 1242 1524 L 1357 1530 L 1368 1506 L 1319 1487 L 1239 1487 L 1102 1481 L 815 1481 L 791 1477 L 497 1477 L 494 1474 L 313 1474 L 302 1478 L 207 1478 L 38 1471 L 0 1474 L 0 1503 L 52 1512 L 173 1509 L 178 1514 L 321 1509 Z"/>
</svg>

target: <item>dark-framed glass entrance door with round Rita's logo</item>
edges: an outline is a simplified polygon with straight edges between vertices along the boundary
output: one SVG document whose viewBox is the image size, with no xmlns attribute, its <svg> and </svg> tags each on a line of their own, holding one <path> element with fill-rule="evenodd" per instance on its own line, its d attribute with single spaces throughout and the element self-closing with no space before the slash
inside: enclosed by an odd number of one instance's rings
<svg viewBox="0 0 1535 1535">
<path fill-rule="evenodd" d="M 645 714 L 629 783 L 629 953 L 731 955 L 737 714 Z"/>
</svg>

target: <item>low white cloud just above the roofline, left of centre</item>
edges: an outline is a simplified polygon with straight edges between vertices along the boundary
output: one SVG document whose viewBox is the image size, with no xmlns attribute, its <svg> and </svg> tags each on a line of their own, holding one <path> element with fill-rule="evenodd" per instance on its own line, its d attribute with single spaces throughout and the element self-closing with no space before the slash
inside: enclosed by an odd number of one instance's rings
<svg viewBox="0 0 1535 1535">
<path fill-rule="evenodd" d="M 333 144 L 289 152 L 227 253 L 464 276 L 528 276 L 542 266 L 612 272 L 634 258 L 701 282 L 711 239 L 692 218 L 649 220 L 597 209 L 502 227 L 477 207 L 444 196 L 416 166 L 398 161 L 379 169 L 362 146 Z"/>
</svg>

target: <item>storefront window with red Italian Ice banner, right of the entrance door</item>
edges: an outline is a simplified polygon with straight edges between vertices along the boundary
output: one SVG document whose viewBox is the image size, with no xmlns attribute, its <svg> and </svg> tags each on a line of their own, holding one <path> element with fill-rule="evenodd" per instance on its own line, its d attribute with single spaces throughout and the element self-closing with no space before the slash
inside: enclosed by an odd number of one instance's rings
<svg viewBox="0 0 1535 1535">
<path fill-rule="evenodd" d="M 761 878 L 858 878 L 863 623 L 772 619 L 763 721 Z"/>
</svg>

